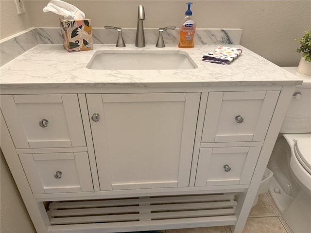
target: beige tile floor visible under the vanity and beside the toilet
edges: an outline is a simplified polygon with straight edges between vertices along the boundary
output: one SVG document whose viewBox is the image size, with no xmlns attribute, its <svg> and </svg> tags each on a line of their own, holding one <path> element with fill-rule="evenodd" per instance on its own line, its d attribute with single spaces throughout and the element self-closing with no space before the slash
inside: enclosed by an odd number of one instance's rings
<svg viewBox="0 0 311 233">
<path fill-rule="evenodd" d="M 165 230 L 163 233 L 231 233 L 227 226 Z M 270 194 L 259 194 L 243 233 L 293 233 L 278 212 Z"/>
</svg>

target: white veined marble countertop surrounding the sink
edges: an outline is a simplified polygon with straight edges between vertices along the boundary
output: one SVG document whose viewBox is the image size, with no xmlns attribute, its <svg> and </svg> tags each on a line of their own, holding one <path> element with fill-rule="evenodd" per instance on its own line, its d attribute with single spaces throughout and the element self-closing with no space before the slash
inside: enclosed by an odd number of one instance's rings
<svg viewBox="0 0 311 233">
<path fill-rule="evenodd" d="M 242 48 L 240 57 L 229 65 L 202 61 L 202 56 L 218 45 L 196 45 L 180 49 L 176 45 L 136 48 L 126 45 L 94 45 L 94 50 L 68 52 L 61 44 L 39 44 L 0 68 L 0 88 L 59 87 L 205 87 L 232 85 L 297 85 L 302 79 Z M 184 50 L 197 65 L 181 70 L 93 70 L 86 68 L 99 50 Z"/>
</svg>

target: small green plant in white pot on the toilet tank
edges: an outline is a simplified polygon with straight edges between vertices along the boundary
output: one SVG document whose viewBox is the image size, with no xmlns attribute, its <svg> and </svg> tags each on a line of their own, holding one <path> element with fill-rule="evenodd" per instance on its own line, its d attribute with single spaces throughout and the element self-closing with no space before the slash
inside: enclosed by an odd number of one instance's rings
<svg viewBox="0 0 311 233">
<path fill-rule="evenodd" d="M 300 44 L 297 52 L 302 52 L 297 71 L 301 74 L 311 75 L 311 31 L 306 31 L 301 39 L 296 39 Z"/>
</svg>

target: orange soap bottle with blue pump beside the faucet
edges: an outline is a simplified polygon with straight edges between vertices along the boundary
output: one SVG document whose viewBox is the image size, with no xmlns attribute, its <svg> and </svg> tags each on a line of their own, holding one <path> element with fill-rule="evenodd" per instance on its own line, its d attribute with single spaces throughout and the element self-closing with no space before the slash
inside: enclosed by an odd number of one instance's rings
<svg viewBox="0 0 311 233">
<path fill-rule="evenodd" d="M 192 12 L 190 11 L 190 5 L 192 2 L 187 2 L 188 10 L 186 11 L 186 17 L 181 21 L 179 27 L 180 42 L 178 44 L 179 48 L 193 48 L 193 37 L 195 33 L 195 22 L 192 18 Z"/>
</svg>

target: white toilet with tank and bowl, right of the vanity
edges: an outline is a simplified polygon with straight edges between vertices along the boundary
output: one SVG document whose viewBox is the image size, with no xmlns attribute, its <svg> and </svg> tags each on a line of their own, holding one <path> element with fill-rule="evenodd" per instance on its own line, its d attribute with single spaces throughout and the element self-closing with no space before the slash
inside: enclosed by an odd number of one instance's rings
<svg viewBox="0 0 311 233">
<path fill-rule="evenodd" d="M 297 86 L 268 163 L 269 193 L 294 233 L 311 233 L 311 76 Z"/>
</svg>

